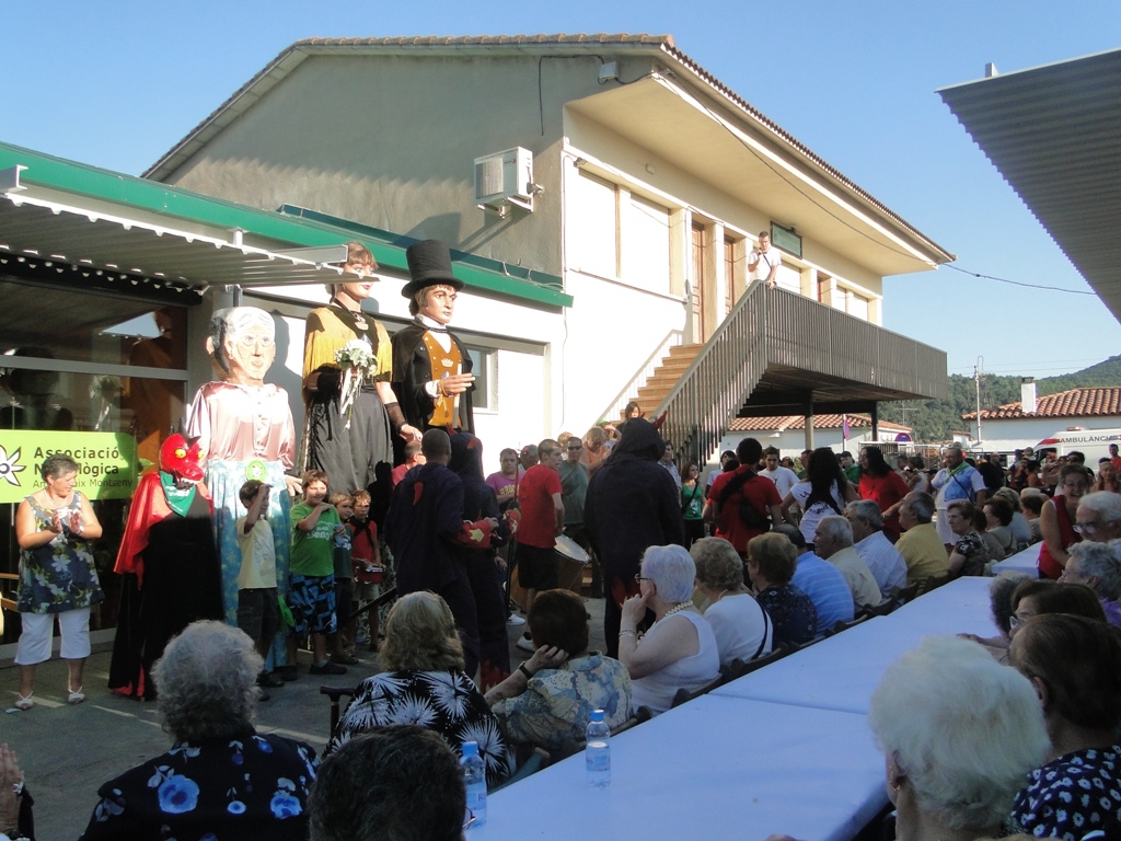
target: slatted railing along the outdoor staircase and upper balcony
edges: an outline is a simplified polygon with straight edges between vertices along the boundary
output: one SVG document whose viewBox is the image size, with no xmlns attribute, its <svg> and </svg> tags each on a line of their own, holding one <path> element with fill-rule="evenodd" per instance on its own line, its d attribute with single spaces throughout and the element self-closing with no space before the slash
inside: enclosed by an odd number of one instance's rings
<svg viewBox="0 0 1121 841">
<path fill-rule="evenodd" d="M 754 281 L 652 414 L 666 413 L 663 435 L 705 463 L 768 366 L 871 386 L 884 399 L 946 394 L 944 352 Z"/>
</svg>

